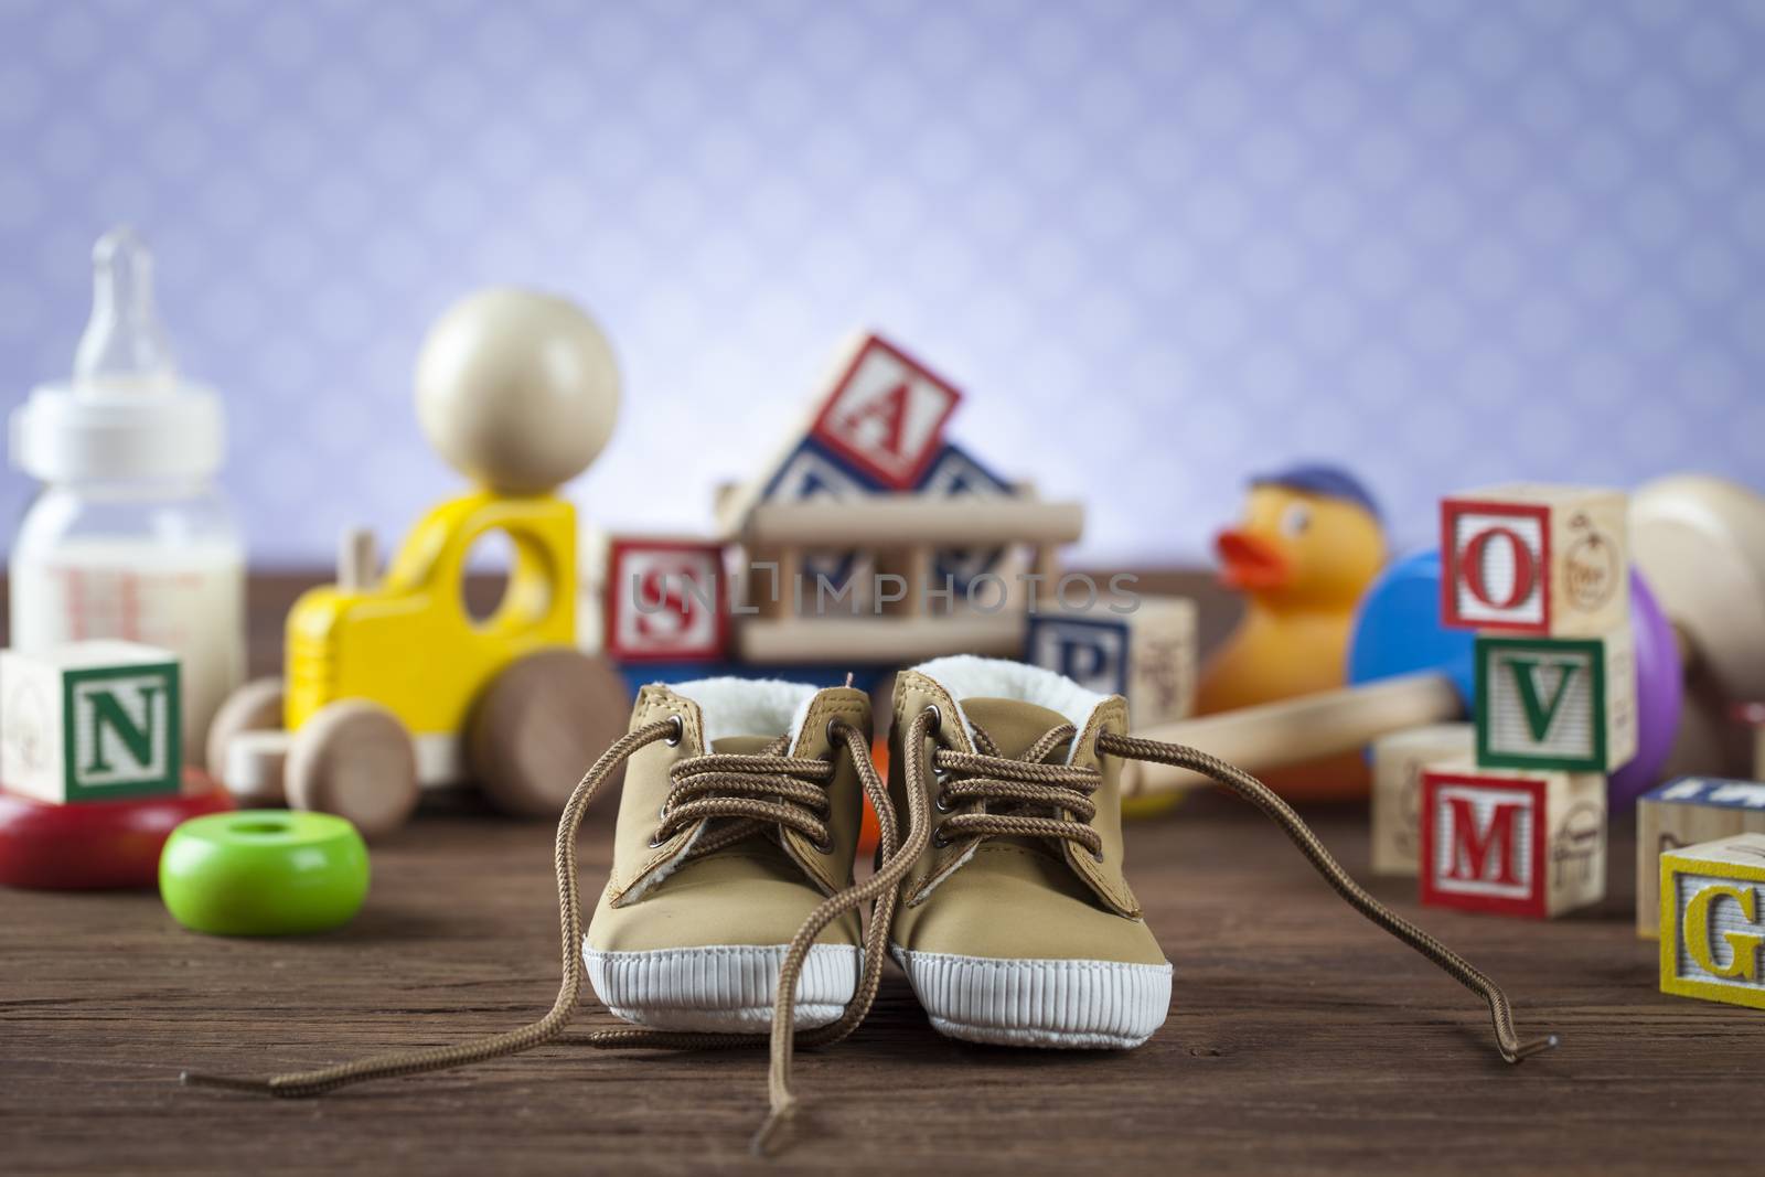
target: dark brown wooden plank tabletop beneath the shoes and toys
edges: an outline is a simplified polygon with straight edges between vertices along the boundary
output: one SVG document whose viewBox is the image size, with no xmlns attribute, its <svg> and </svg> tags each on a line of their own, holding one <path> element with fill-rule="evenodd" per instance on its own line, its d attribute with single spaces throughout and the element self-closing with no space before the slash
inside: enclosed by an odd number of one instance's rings
<svg viewBox="0 0 1765 1177">
<path fill-rule="evenodd" d="M 268 584 L 268 588 L 267 588 Z M 254 586 L 281 602 L 279 582 Z M 272 591 L 274 589 L 274 591 Z M 274 658 L 267 641 L 259 658 Z M 607 866 L 611 799 L 584 835 Z M 1361 879 L 1357 806 L 1310 810 Z M 1663 997 L 1631 930 L 1633 829 L 1611 896 L 1557 923 L 1419 911 L 1507 986 L 1511 1068 L 1476 997 L 1348 911 L 1285 838 L 1223 796 L 1130 835 L 1128 875 L 1175 962 L 1170 1020 L 1128 1053 L 937 1036 L 893 965 L 870 1020 L 800 1055 L 787 1170 L 1760 1172 L 1765 1015 Z M 563 1041 L 466 1071 L 309 1101 L 184 1089 L 180 1068 L 265 1075 L 494 1032 L 556 992 L 551 829 L 439 805 L 376 845 L 348 928 L 300 941 L 182 932 L 154 895 L 0 893 L 0 1170 L 678 1172 L 745 1165 L 764 1052 Z M 574 1038 L 612 1025 L 586 1002 Z"/>
</svg>

